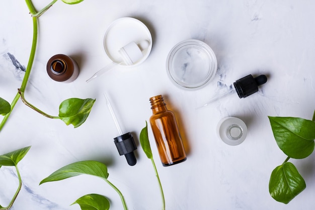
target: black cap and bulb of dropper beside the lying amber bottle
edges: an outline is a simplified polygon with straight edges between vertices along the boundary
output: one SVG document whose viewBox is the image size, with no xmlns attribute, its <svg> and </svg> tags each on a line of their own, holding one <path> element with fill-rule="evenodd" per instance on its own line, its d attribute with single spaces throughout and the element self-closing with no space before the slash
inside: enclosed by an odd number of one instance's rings
<svg viewBox="0 0 315 210">
<path fill-rule="evenodd" d="M 137 149 L 134 143 L 133 136 L 130 132 L 122 134 L 114 138 L 114 143 L 117 147 L 119 155 L 124 155 L 128 164 L 134 166 L 137 163 L 137 159 L 134 156 L 133 151 Z"/>
</svg>

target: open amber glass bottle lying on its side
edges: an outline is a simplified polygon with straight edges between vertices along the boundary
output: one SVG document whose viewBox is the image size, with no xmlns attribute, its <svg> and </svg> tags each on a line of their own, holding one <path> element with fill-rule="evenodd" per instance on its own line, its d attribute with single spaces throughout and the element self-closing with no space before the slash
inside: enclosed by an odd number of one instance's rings
<svg viewBox="0 0 315 210">
<path fill-rule="evenodd" d="M 175 115 L 168 110 L 162 95 L 150 98 L 153 115 L 150 124 L 163 166 L 185 161 L 186 153 Z"/>
</svg>

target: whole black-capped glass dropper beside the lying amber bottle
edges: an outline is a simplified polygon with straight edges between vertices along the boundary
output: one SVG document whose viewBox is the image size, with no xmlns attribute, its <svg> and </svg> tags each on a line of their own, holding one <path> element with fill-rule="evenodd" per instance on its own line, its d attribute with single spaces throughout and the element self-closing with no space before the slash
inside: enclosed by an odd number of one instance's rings
<svg viewBox="0 0 315 210">
<path fill-rule="evenodd" d="M 115 116 L 115 113 L 113 111 L 113 108 L 111 106 L 111 103 L 110 103 L 107 95 L 104 94 L 104 96 L 106 99 L 106 104 L 108 106 L 108 109 L 111 112 L 112 118 L 113 118 L 115 125 L 116 125 L 116 128 L 119 132 L 119 136 L 114 138 L 115 146 L 118 150 L 119 155 L 120 156 L 124 155 L 126 160 L 127 160 L 127 163 L 130 166 L 134 166 L 137 163 L 137 159 L 136 159 L 133 151 L 137 149 L 137 146 L 134 142 L 132 133 L 130 133 L 130 132 L 127 132 L 125 134 L 122 133 L 120 126 L 118 124 L 117 118 Z"/>
</svg>

